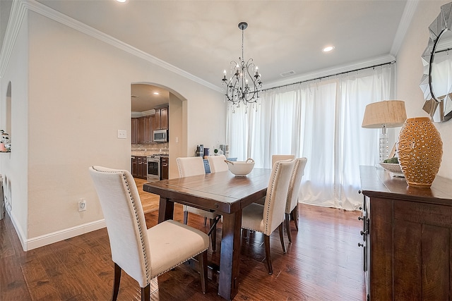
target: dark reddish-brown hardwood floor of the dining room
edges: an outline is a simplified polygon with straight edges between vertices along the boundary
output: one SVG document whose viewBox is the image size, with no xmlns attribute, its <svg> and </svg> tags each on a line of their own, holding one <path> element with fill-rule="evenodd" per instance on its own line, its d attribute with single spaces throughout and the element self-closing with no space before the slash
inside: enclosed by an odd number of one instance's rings
<svg viewBox="0 0 452 301">
<path fill-rule="evenodd" d="M 142 190 L 141 190 L 142 192 Z M 147 193 L 147 192 L 143 192 Z M 292 223 L 292 243 L 283 254 L 278 231 L 270 239 L 273 275 L 268 275 L 263 236 L 242 238 L 239 293 L 234 300 L 365 300 L 359 212 L 299 206 L 299 232 Z M 158 211 L 145 214 L 148 227 Z M 182 206 L 174 219 L 182 221 Z M 189 216 L 189 225 L 208 231 L 203 219 Z M 220 258 L 221 223 L 217 252 Z M 52 245 L 23 252 L 11 219 L 0 221 L 0 300 L 110 300 L 113 263 L 107 230 L 100 229 Z M 203 295 L 196 271 L 188 265 L 153 279 L 152 300 L 223 300 L 217 276 Z M 124 272 L 118 300 L 140 300 L 136 281 Z"/>
</svg>

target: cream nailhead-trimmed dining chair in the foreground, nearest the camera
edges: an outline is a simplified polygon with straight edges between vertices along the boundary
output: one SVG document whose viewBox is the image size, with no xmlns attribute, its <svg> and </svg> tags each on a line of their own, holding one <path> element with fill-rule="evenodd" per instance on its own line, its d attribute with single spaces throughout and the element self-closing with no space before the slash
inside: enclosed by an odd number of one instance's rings
<svg viewBox="0 0 452 301">
<path fill-rule="evenodd" d="M 201 287 L 207 288 L 208 235 L 177 221 L 146 228 L 135 181 L 129 171 L 89 168 L 100 200 L 114 262 L 112 300 L 117 300 L 121 271 L 141 287 L 141 300 L 150 300 L 151 279 L 191 257 L 200 263 Z"/>
</svg>

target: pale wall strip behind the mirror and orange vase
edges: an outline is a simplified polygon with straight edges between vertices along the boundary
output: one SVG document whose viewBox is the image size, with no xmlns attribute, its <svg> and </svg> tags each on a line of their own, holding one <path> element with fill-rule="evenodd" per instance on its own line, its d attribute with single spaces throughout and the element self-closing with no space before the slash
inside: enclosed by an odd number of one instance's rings
<svg viewBox="0 0 452 301">
<path fill-rule="evenodd" d="M 421 56 L 429 40 L 429 25 L 439 15 L 441 5 L 450 1 L 419 1 L 415 15 L 397 55 L 396 98 L 405 100 L 407 116 L 428 116 L 422 110 L 424 97 L 419 84 L 423 74 Z M 435 123 L 443 140 L 439 176 L 452 178 L 452 121 Z"/>
</svg>

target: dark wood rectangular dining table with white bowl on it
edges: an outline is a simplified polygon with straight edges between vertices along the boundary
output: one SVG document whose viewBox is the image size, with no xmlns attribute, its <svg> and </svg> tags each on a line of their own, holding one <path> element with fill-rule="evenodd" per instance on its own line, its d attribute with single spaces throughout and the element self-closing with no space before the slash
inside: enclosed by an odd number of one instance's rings
<svg viewBox="0 0 452 301">
<path fill-rule="evenodd" d="M 271 169 L 254 168 L 246 177 L 230 171 L 145 183 L 160 195 L 158 221 L 173 218 L 174 202 L 215 211 L 223 216 L 218 295 L 232 300 L 239 288 L 242 209 L 266 196 Z"/>
</svg>

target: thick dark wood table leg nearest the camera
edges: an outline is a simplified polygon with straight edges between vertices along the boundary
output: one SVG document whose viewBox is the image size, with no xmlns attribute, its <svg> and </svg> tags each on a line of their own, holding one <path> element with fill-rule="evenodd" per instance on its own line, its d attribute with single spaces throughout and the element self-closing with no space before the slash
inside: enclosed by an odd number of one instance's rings
<svg viewBox="0 0 452 301">
<path fill-rule="evenodd" d="M 218 295 L 232 300 L 239 290 L 242 210 L 223 215 Z"/>
</svg>

